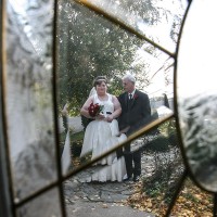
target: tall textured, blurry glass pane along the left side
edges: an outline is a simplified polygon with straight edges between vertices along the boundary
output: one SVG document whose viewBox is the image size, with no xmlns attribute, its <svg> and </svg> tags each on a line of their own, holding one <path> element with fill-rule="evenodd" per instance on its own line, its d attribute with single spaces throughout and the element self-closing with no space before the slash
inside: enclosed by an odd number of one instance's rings
<svg viewBox="0 0 217 217">
<path fill-rule="evenodd" d="M 4 97 L 16 199 L 56 179 L 52 9 L 52 1 L 7 1 Z"/>
</svg>

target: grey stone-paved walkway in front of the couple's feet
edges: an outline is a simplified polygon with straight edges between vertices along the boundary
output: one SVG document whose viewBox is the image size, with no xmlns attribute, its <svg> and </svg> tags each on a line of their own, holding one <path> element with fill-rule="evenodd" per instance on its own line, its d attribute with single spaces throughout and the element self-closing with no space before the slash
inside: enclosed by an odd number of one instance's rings
<svg viewBox="0 0 217 217">
<path fill-rule="evenodd" d="M 148 174 L 149 168 L 151 165 L 146 165 L 142 174 Z M 88 173 L 82 171 L 64 184 L 68 217 L 154 217 L 126 204 L 126 200 L 136 193 L 133 182 L 81 182 Z"/>
</svg>

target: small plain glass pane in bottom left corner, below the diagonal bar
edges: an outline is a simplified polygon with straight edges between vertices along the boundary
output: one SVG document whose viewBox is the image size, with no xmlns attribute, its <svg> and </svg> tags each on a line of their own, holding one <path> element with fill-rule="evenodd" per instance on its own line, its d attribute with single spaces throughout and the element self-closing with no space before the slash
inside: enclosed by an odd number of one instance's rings
<svg viewBox="0 0 217 217">
<path fill-rule="evenodd" d="M 17 208 L 20 217 L 61 217 L 59 190 L 53 189 Z"/>
</svg>

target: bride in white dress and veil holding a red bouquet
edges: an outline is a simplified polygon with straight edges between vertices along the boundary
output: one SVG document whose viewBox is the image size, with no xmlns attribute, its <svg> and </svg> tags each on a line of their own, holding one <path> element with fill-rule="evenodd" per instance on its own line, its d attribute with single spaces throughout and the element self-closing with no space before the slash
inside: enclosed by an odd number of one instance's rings
<svg viewBox="0 0 217 217">
<path fill-rule="evenodd" d="M 120 115 L 122 107 L 117 98 L 106 92 L 106 79 L 103 76 L 99 76 L 93 85 L 95 93 L 88 98 L 80 110 L 81 115 L 93 119 L 86 128 L 80 157 L 92 153 L 91 158 L 94 158 L 111 150 L 114 145 L 127 140 L 125 135 L 117 137 L 119 129 L 116 118 Z M 103 110 L 95 117 L 92 117 L 88 111 L 91 103 L 103 105 Z M 125 158 L 124 156 L 117 158 L 115 152 L 102 158 L 97 164 L 104 166 L 92 174 L 86 180 L 87 182 L 123 181 L 123 179 L 127 178 Z"/>
</svg>

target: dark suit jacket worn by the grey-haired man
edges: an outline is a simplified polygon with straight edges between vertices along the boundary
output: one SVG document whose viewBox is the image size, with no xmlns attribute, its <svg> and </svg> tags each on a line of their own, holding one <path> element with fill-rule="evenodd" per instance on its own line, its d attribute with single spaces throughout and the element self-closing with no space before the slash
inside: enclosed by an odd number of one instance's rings
<svg viewBox="0 0 217 217">
<path fill-rule="evenodd" d="M 119 130 L 130 126 L 130 129 L 126 133 L 129 136 L 149 124 L 151 106 L 148 94 L 136 90 L 131 105 L 129 105 L 127 92 L 120 94 L 118 100 L 122 105 L 122 114 L 118 117 Z"/>
</svg>

